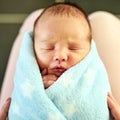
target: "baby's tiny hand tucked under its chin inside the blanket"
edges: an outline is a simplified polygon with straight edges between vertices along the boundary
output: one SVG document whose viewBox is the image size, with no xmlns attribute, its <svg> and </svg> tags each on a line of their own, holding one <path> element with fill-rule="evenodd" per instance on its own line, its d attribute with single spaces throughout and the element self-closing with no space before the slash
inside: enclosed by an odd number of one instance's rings
<svg viewBox="0 0 120 120">
<path fill-rule="evenodd" d="M 48 74 L 48 70 L 45 68 L 42 70 L 42 78 L 45 89 L 52 85 L 56 80 L 57 76 L 54 74 Z"/>
</svg>

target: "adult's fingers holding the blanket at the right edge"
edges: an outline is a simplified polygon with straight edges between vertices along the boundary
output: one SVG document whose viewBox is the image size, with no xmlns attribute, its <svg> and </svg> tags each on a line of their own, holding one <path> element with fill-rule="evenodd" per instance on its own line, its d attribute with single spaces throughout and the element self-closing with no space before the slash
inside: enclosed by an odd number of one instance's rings
<svg viewBox="0 0 120 120">
<path fill-rule="evenodd" d="M 120 120 L 120 105 L 110 93 L 108 93 L 107 102 L 114 119 Z"/>
</svg>

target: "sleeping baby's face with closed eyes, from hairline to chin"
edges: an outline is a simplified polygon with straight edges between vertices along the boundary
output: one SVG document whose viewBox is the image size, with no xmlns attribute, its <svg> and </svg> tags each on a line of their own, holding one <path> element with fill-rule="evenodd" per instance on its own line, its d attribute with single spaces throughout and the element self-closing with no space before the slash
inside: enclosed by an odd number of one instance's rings
<svg viewBox="0 0 120 120">
<path fill-rule="evenodd" d="M 49 74 L 60 76 L 81 61 L 90 50 L 88 26 L 74 17 L 49 17 L 35 28 L 34 47 L 38 64 Z"/>
</svg>

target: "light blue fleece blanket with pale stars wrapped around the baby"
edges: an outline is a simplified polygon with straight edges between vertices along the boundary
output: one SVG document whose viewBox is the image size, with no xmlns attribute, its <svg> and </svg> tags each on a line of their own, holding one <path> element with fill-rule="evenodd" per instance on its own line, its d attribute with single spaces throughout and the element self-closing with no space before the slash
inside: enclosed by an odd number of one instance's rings
<svg viewBox="0 0 120 120">
<path fill-rule="evenodd" d="M 94 41 L 82 61 L 44 89 L 32 36 L 29 32 L 23 37 L 9 120 L 109 120 L 110 86 Z"/>
</svg>

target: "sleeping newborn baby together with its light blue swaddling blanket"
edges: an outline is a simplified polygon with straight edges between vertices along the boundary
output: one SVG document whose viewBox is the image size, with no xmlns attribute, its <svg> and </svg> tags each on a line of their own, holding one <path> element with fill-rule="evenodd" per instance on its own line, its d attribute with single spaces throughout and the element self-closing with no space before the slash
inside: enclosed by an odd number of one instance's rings
<svg viewBox="0 0 120 120">
<path fill-rule="evenodd" d="M 22 40 L 9 120 L 109 120 L 109 91 L 85 12 L 44 9 Z"/>
</svg>

